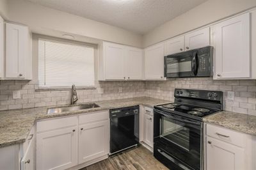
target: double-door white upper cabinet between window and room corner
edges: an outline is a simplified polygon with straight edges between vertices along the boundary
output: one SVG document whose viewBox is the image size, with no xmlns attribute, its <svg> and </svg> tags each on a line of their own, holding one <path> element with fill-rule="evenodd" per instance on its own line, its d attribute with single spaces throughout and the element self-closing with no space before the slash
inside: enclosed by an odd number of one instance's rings
<svg viewBox="0 0 256 170">
<path fill-rule="evenodd" d="M 143 50 L 103 42 L 99 56 L 99 80 L 142 80 Z"/>
</svg>

